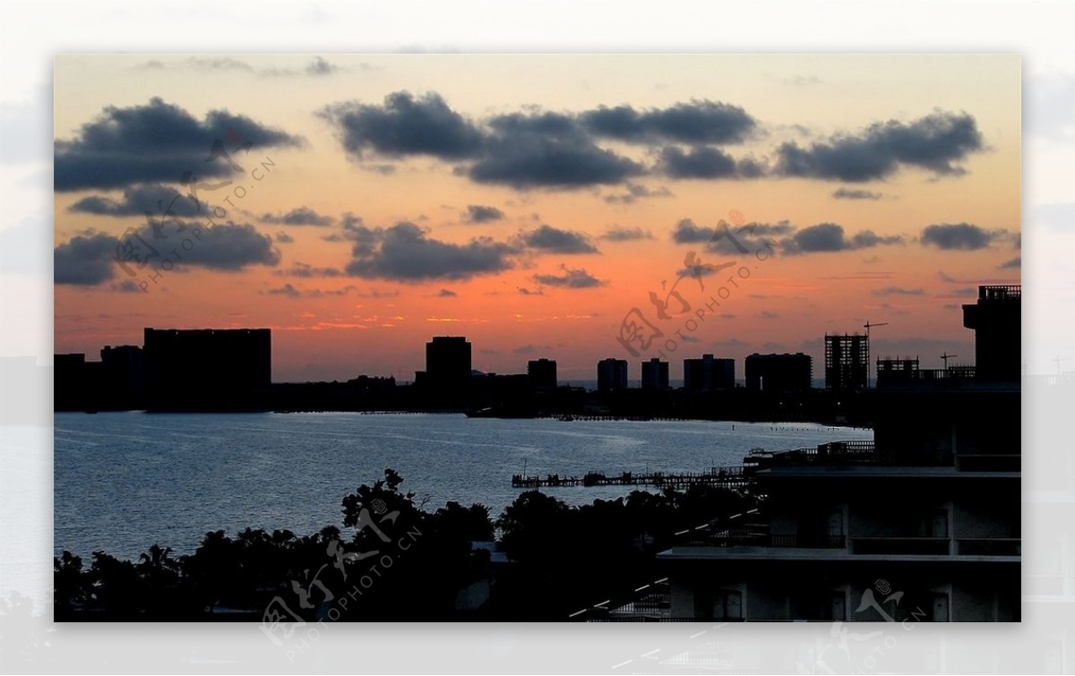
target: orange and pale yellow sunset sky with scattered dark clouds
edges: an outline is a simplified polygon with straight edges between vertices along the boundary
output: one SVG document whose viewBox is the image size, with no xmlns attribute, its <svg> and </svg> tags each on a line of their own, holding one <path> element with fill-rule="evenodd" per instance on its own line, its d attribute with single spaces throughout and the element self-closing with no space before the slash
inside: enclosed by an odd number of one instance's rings
<svg viewBox="0 0 1075 676">
<path fill-rule="evenodd" d="M 1018 56 L 62 55 L 54 106 L 56 353 L 268 327 L 277 382 L 410 380 L 445 334 L 562 382 L 821 377 L 868 321 L 971 362 L 961 304 L 1020 281 Z"/>
</svg>

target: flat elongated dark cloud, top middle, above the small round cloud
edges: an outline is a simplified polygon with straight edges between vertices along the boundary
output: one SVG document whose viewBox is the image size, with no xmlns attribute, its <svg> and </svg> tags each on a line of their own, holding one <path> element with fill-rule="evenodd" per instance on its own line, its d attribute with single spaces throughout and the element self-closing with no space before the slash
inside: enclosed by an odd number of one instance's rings
<svg viewBox="0 0 1075 676">
<path fill-rule="evenodd" d="M 632 143 L 737 143 L 757 127 L 742 107 L 707 100 L 643 111 L 630 105 L 602 105 L 583 113 L 579 119 L 596 135 Z"/>
</svg>

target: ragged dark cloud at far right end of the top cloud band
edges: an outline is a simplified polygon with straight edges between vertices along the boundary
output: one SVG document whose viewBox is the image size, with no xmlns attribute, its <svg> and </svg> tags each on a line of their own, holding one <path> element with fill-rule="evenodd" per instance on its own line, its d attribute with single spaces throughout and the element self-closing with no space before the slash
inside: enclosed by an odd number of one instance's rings
<svg viewBox="0 0 1075 676">
<path fill-rule="evenodd" d="M 956 162 L 985 147 L 974 117 L 936 112 L 913 123 L 876 123 L 857 135 L 840 134 L 802 148 L 794 142 L 777 148 L 777 173 L 785 176 L 848 182 L 885 178 L 903 167 L 959 175 Z"/>
</svg>

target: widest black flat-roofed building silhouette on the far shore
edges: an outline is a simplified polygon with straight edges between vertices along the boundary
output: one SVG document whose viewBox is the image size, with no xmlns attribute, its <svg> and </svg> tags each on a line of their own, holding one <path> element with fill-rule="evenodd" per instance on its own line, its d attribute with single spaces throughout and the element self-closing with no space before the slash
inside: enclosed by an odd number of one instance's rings
<svg viewBox="0 0 1075 676">
<path fill-rule="evenodd" d="M 155 409 L 257 409 L 272 382 L 269 329 L 146 329 L 144 359 Z"/>
</svg>

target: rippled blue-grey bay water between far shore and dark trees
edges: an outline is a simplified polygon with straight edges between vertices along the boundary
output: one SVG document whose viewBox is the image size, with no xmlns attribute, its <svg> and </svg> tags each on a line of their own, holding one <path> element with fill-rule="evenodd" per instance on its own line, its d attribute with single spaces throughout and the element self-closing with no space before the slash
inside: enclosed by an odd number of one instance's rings
<svg viewBox="0 0 1075 676">
<path fill-rule="evenodd" d="M 734 427 L 734 430 L 732 429 Z M 342 526 L 341 501 L 392 468 L 426 500 L 481 502 L 498 516 L 511 478 L 589 470 L 698 472 L 870 430 L 808 423 L 500 420 L 462 415 L 82 413 L 55 416 L 58 555 L 103 549 L 137 559 L 150 545 L 189 553 L 206 531 L 314 533 Z M 630 487 L 559 488 L 571 504 Z"/>
</svg>

